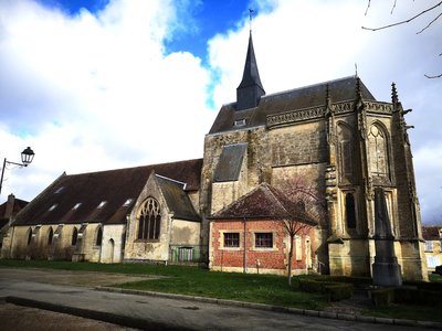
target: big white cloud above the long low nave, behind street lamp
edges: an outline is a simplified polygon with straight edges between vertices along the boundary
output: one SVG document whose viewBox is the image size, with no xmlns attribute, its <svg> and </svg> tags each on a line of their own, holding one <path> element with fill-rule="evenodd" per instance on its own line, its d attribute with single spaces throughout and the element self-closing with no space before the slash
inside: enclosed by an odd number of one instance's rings
<svg viewBox="0 0 442 331">
<path fill-rule="evenodd" d="M 166 1 L 115 0 L 76 17 L 0 2 L 1 154 L 36 153 L 20 175 L 7 170 L 3 196 L 32 199 L 64 170 L 202 157 L 209 72 L 190 53 L 165 54 L 173 19 Z"/>
</svg>

